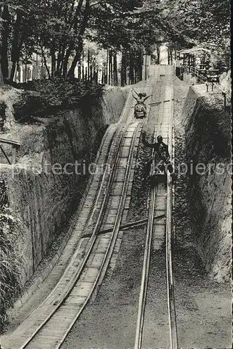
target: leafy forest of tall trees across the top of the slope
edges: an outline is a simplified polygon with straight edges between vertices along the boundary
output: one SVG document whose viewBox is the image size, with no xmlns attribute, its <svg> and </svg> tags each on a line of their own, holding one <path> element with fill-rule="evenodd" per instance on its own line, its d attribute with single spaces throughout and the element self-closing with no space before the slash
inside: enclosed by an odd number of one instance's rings
<svg viewBox="0 0 233 349">
<path fill-rule="evenodd" d="M 107 50 L 102 83 L 142 80 L 142 55 L 167 43 L 170 55 L 209 50 L 214 68 L 230 68 L 227 0 L 4 0 L 0 3 L 0 81 L 13 82 L 19 64 L 41 57 L 46 77 L 95 80 L 96 54 Z M 95 50 L 85 50 L 95 43 Z M 117 54 L 121 62 L 117 63 Z M 88 71 L 82 61 L 88 61 Z M 159 59 L 159 54 L 157 56 Z M 48 61 L 51 61 L 50 67 Z M 111 81 L 110 81 L 111 80 Z"/>
</svg>

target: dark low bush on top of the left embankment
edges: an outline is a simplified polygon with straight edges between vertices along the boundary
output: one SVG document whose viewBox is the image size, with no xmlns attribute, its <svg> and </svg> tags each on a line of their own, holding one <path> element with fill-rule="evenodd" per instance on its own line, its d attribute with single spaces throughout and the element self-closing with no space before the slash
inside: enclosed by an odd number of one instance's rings
<svg viewBox="0 0 233 349">
<path fill-rule="evenodd" d="M 34 122 L 37 117 L 49 117 L 60 110 L 73 109 L 83 103 L 90 104 L 103 94 L 103 85 L 80 80 L 35 80 L 35 93 L 27 91 L 13 105 L 15 119 Z"/>
</svg>

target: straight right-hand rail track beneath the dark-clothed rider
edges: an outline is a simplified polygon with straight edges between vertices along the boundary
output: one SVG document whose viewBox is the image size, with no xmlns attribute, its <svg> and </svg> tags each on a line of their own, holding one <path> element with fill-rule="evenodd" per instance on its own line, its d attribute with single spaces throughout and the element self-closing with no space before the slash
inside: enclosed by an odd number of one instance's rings
<svg viewBox="0 0 233 349">
<path fill-rule="evenodd" d="M 167 86 L 165 76 L 163 91 L 160 96 L 160 110 L 156 122 L 154 132 L 154 141 L 157 135 L 162 135 L 165 143 L 168 144 L 170 154 L 172 149 L 172 123 L 171 116 L 173 114 L 173 91 Z M 156 104 L 156 103 L 154 103 Z M 153 154 L 152 154 L 153 156 Z M 165 219 L 155 221 L 154 217 L 165 215 Z M 167 186 L 164 184 L 156 184 L 151 187 L 149 198 L 149 214 L 146 228 L 146 243 L 144 248 L 144 262 L 142 267 L 142 281 L 140 288 L 140 299 L 137 313 L 137 328 L 135 334 L 135 349 L 146 347 L 144 342 L 144 326 L 146 311 L 146 296 L 149 287 L 149 274 L 151 262 L 151 250 L 159 250 L 165 243 L 165 261 L 166 261 L 166 278 L 167 278 L 167 311 L 170 333 L 170 348 L 179 348 L 177 326 L 176 326 L 176 309 L 174 302 L 174 283 L 172 275 L 172 181 L 170 173 L 167 172 Z M 156 343 L 153 347 L 158 347 Z"/>
</svg>

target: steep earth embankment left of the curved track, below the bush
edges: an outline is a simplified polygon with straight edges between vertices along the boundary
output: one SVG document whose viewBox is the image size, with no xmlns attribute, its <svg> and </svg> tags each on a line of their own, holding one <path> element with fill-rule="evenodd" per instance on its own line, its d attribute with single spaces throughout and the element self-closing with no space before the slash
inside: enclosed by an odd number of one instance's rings
<svg viewBox="0 0 233 349">
<path fill-rule="evenodd" d="M 1 94 L 7 107 L 6 127 L 0 137 L 21 143 L 17 164 L 23 168 L 12 171 L 1 166 L 0 179 L 7 184 L 10 209 L 20 220 L 17 248 L 23 257 L 22 285 L 51 244 L 59 244 L 59 237 L 66 235 L 69 218 L 87 186 L 88 166 L 96 157 L 107 124 L 119 120 L 127 96 L 127 89 L 108 89 L 101 100 L 78 110 L 40 119 L 38 124 L 17 124 L 13 117 L 17 92 Z M 8 147 L 6 152 L 10 156 Z M 5 160 L 1 156 L 0 162 Z"/>
</svg>

